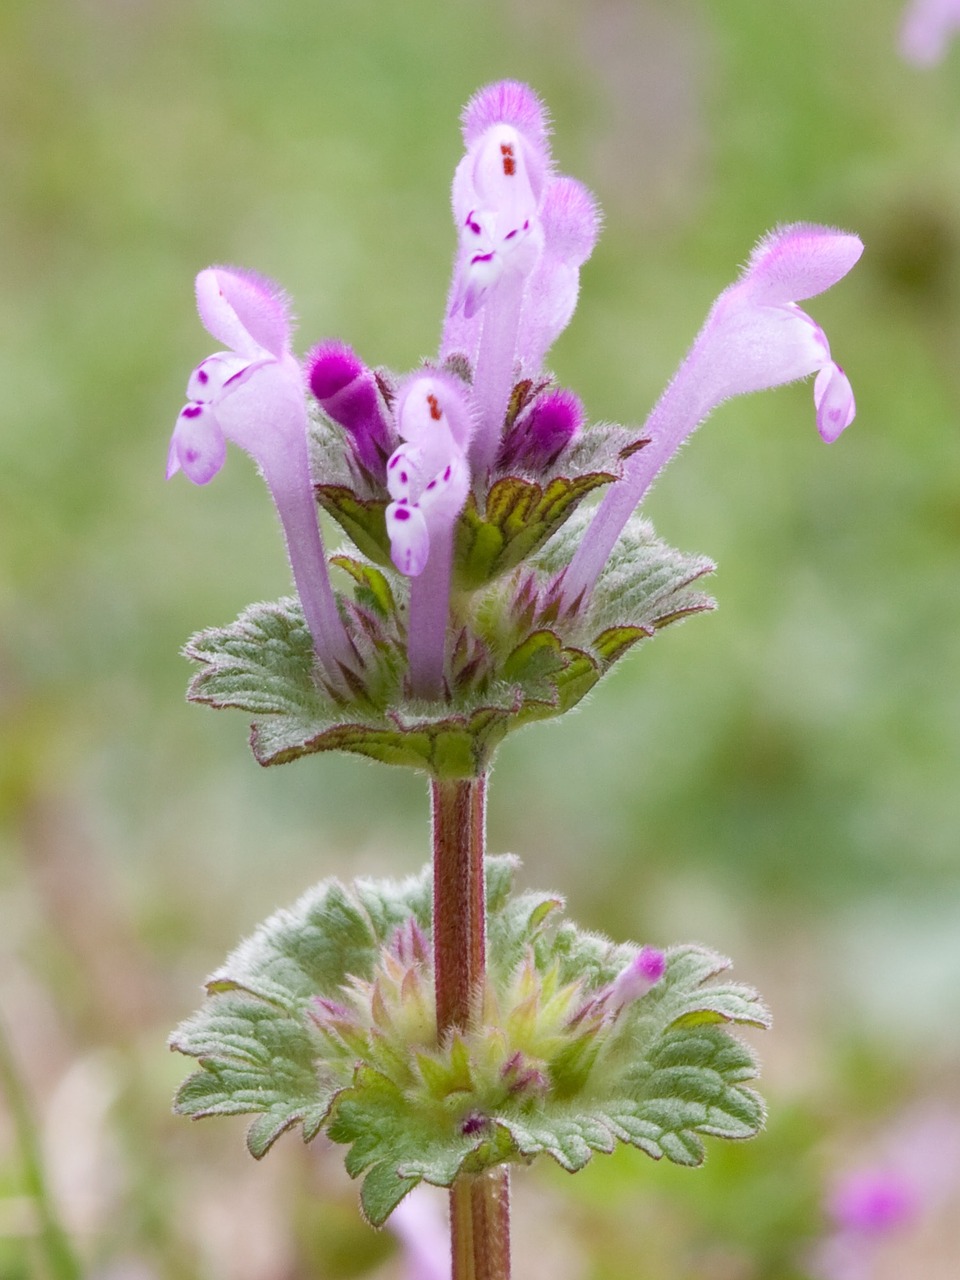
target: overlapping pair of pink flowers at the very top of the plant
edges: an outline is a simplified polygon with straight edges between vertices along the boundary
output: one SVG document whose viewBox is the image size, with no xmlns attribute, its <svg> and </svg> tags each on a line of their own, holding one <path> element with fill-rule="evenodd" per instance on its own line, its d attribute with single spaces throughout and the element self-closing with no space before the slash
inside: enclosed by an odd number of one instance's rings
<svg viewBox="0 0 960 1280">
<path fill-rule="evenodd" d="M 460 251 L 440 357 L 474 371 L 471 468 L 483 483 L 500 444 L 517 367 L 532 375 L 576 306 L 599 230 L 593 196 L 553 174 L 547 115 L 526 84 L 502 81 L 463 111 L 467 151 L 453 178 Z"/>
</svg>

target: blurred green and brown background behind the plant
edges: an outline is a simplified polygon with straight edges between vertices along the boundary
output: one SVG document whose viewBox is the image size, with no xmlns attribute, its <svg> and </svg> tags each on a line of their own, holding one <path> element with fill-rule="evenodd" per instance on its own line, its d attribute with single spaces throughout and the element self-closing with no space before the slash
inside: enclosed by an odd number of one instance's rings
<svg viewBox="0 0 960 1280">
<path fill-rule="evenodd" d="M 178 648 L 288 588 L 232 454 L 163 480 L 239 262 L 407 369 L 435 349 L 457 113 L 512 76 L 605 229 L 552 364 L 641 421 L 778 221 L 858 230 L 810 310 L 859 401 L 724 406 L 646 509 L 721 608 L 499 754 L 490 845 L 614 937 L 701 941 L 776 1015 L 767 1133 L 700 1171 L 636 1152 L 517 1178 L 517 1274 L 791 1280 L 831 1180 L 960 1108 L 960 49 L 920 72 L 896 0 L 5 0 L 0 6 L 0 1276 L 42 1276 L 42 1166 L 97 1280 L 401 1277 L 335 1152 L 262 1165 L 189 1125 L 165 1050 L 200 983 L 328 874 L 426 858 L 421 778 L 262 771 L 188 707 Z M 24 1164 L 10 1079 L 33 1120 Z M 908 1117 L 908 1119 L 905 1119 Z M 897 1129 L 897 1126 L 901 1126 Z M 909 1144 L 909 1138 L 904 1139 Z M 950 1197 L 952 1194 L 952 1206 Z M 956 1275 L 957 1193 L 870 1275 Z"/>
</svg>

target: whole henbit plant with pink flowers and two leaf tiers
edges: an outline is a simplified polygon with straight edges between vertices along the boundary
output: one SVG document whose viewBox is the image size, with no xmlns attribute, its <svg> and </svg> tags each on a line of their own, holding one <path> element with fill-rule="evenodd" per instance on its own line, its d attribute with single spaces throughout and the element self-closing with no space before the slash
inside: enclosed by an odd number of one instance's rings
<svg viewBox="0 0 960 1280">
<path fill-rule="evenodd" d="M 419 1183 L 448 1187 L 456 1280 L 503 1280 L 512 1165 L 545 1153 L 572 1171 L 618 1142 L 696 1165 L 704 1135 L 763 1123 L 754 1056 L 730 1030 L 767 1025 L 756 993 L 718 980 L 728 961 L 701 947 L 614 945 L 561 920 L 557 895 L 516 892 L 516 861 L 486 856 L 486 776 L 508 732 L 570 710 L 641 640 L 712 607 L 710 562 L 635 508 L 713 407 L 817 374 L 822 436 L 850 424 L 850 383 L 797 302 L 863 246 L 808 224 L 771 233 L 645 428 L 586 425 L 544 358 L 573 314 L 596 204 L 556 173 L 524 84 L 480 91 L 463 138 L 440 349 L 413 372 L 337 340 L 301 366 L 276 285 L 197 276 L 201 319 L 229 349 L 191 378 L 168 475 L 205 484 L 227 440 L 247 449 L 297 595 L 196 635 L 188 696 L 250 713 L 261 764 L 344 750 L 425 772 L 433 864 L 310 890 L 210 978 L 172 1044 L 200 1062 L 179 1111 L 253 1114 L 257 1157 L 294 1125 L 325 1132 L 378 1226 Z M 329 559 L 316 504 L 348 539 Z"/>
</svg>

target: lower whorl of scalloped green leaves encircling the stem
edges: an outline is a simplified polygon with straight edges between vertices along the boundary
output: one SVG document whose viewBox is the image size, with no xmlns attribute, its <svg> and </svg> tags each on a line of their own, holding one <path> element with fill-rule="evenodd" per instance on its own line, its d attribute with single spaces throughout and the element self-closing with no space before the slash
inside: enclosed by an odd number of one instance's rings
<svg viewBox="0 0 960 1280">
<path fill-rule="evenodd" d="M 172 1047 L 200 1065 L 177 1110 L 252 1114 L 247 1140 L 257 1157 L 287 1129 L 301 1125 L 310 1140 L 325 1128 L 347 1146 L 351 1176 L 364 1178 L 362 1208 L 375 1225 L 419 1181 L 448 1187 L 460 1172 L 502 1161 L 545 1153 L 573 1171 L 620 1142 L 694 1165 L 704 1138 L 756 1133 L 763 1105 L 749 1087 L 756 1064 L 727 1027 L 765 1025 L 767 1012 L 750 988 L 716 980 L 728 961 L 696 946 L 668 950 L 664 977 L 645 996 L 593 1032 L 589 1015 L 564 1032 L 563 1009 L 580 1000 L 603 1009 L 604 989 L 637 947 L 556 924 L 562 901 L 513 893 L 516 868 L 509 856 L 485 867 L 493 984 L 485 1007 L 492 1018 L 503 1007 L 502 1025 L 461 1029 L 436 1048 L 383 1042 L 389 1019 L 369 1042 L 328 1034 L 316 997 L 337 1004 L 348 978 L 370 980 L 381 947 L 411 916 L 429 933 L 431 887 L 429 869 L 402 882 L 324 882 L 237 947 L 210 979 L 204 1007 L 174 1033 Z M 520 968 L 531 961 L 534 970 Z M 540 1043 L 553 1037 L 545 1052 L 556 1057 L 541 1064 L 547 1074 L 532 1093 L 506 1088 L 490 1053 L 512 1060 L 511 1028 L 522 1024 L 531 1036 L 539 1016 Z M 365 1043 L 380 1052 L 378 1065 L 364 1060 Z"/>
</svg>

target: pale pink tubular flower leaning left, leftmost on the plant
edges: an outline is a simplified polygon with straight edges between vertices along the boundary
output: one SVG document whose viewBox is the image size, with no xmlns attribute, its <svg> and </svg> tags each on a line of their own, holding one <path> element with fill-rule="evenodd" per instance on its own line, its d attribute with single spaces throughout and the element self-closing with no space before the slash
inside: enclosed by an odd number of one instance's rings
<svg viewBox="0 0 960 1280">
<path fill-rule="evenodd" d="M 303 375 L 291 353 L 287 298 L 251 271 L 211 266 L 197 276 L 197 307 L 229 351 L 209 356 L 191 375 L 166 477 L 183 471 L 195 484 L 207 484 L 224 465 L 227 440 L 250 453 L 276 504 L 316 654 L 335 677 L 338 663 L 351 663 L 351 645 L 316 522 Z"/>
</svg>

